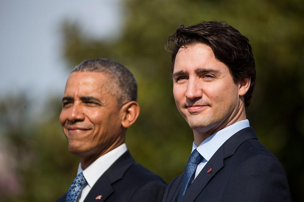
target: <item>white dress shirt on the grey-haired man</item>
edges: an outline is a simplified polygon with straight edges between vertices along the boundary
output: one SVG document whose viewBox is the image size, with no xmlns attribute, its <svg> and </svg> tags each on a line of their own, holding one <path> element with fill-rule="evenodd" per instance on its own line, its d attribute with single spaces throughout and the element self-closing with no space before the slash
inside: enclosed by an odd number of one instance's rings
<svg viewBox="0 0 304 202">
<path fill-rule="evenodd" d="M 77 174 L 82 172 L 87 180 L 87 183 L 84 184 L 81 191 L 79 202 L 83 202 L 85 200 L 85 197 L 88 195 L 99 177 L 101 177 L 102 174 L 104 174 L 105 171 L 108 170 L 108 168 L 126 151 L 127 146 L 124 143 L 96 159 L 96 161 L 90 164 L 85 170 L 81 169 L 81 163 L 79 163 Z"/>
</svg>

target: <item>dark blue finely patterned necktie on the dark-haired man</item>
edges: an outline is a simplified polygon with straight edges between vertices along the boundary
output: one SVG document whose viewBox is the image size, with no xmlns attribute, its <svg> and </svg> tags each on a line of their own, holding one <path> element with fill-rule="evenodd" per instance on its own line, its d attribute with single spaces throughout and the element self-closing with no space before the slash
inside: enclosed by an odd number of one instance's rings
<svg viewBox="0 0 304 202">
<path fill-rule="evenodd" d="M 181 197 L 184 196 L 188 188 L 189 182 L 191 180 L 191 177 L 196 171 L 197 165 L 201 163 L 201 161 L 202 161 L 202 155 L 199 154 L 199 152 L 196 149 L 193 150 L 185 167 L 184 177 L 183 180 L 181 181 L 181 189 L 179 190 L 177 201 L 180 201 Z"/>
</svg>

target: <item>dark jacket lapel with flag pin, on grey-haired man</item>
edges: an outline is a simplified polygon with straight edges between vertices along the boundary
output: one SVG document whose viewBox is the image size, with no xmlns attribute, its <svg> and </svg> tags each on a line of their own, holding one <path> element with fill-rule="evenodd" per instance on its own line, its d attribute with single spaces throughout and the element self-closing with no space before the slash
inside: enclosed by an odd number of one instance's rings
<svg viewBox="0 0 304 202">
<path fill-rule="evenodd" d="M 126 151 L 121 157 L 119 157 L 107 171 L 96 181 L 92 189 L 85 197 L 84 202 L 95 200 L 99 195 L 102 195 L 100 200 L 105 201 L 112 193 L 112 184 L 123 177 L 126 170 L 135 163 L 133 157 L 129 151 Z"/>
</svg>

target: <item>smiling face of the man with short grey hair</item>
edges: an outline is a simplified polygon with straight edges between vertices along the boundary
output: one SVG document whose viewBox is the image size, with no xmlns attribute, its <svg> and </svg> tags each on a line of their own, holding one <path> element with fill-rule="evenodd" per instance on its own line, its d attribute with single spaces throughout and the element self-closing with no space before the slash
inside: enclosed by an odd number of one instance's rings
<svg viewBox="0 0 304 202">
<path fill-rule="evenodd" d="M 124 141 L 122 112 L 109 82 L 109 75 L 98 72 L 69 76 L 59 119 L 71 153 L 94 156 Z"/>
</svg>

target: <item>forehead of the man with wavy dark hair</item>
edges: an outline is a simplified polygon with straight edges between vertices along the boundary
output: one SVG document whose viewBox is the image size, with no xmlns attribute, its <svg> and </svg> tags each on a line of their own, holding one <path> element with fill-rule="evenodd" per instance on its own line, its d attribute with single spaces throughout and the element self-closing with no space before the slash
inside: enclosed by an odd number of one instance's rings
<svg viewBox="0 0 304 202">
<path fill-rule="evenodd" d="M 198 68 L 218 68 L 222 65 L 224 63 L 216 59 L 212 49 L 208 45 L 197 43 L 178 50 L 173 72 L 181 70 L 191 71 Z"/>
</svg>

